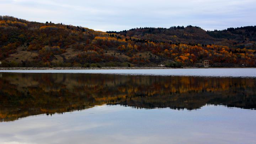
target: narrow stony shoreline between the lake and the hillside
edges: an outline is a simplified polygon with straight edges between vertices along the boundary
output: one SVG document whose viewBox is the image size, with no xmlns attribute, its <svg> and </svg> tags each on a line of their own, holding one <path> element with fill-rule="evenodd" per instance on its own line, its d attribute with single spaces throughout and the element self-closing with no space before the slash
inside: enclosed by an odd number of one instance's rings
<svg viewBox="0 0 256 144">
<path fill-rule="evenodd" d="M 225 67 L 222 67 L 225 68 Z M 245 67 L 226 67 L 226 68 L 245 68 Z M 246 67 L 247 68 L 247 67 Z M 255 68 L 255 67 L 251 67 Z M 0 70 L 107 70 L 107 69 L 205 69 L 197 67 L 183 67 L 183 68 L 167 68 L 167 67 L 0 67 Z M 213 68 L 211 68 L 213 69 Z M 221 69 L 221 68 L 219 68 Z"/>
</svg>

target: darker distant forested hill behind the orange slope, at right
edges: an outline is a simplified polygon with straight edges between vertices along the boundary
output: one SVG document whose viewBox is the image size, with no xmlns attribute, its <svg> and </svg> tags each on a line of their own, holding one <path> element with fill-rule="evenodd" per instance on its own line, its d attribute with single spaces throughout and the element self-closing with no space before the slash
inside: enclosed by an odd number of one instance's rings
<svg viewBox="0 0 256 144">
<path fill-rule="evenodd" d="M 256 49 L 256 26 L 227 28 L 221 31 L 205 31 L 197 26 L 172 26 L 170 28 L 133 28 L 118 33 L 154 42 L 171 42 L 186 44 L 217 44 L 234 48 Z"/>
</svg>

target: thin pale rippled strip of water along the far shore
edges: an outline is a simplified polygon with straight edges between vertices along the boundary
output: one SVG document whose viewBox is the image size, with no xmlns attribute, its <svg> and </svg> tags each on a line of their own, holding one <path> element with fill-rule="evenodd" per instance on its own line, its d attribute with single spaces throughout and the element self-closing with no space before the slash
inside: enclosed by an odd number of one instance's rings
<svg viewBox="0 0 256 144">
<path fill-rule="evenodd" d="M 91 73 L 128 75 L 210 76 L 210 77 L 256 77 L 255 68 L 209 68 L 209 69 L 107 69 L 107 70 L 0 70 L 8 73 Z"/>
</svg>

